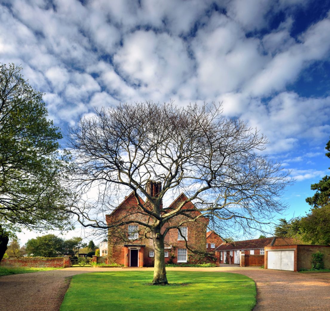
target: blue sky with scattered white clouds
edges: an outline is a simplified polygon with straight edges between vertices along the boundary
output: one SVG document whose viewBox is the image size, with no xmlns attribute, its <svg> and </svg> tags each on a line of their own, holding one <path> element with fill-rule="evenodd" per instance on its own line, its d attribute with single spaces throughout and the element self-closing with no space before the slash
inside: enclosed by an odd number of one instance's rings
<svg viewBox="0 0 330 311">
<path fill-rule="evenodd" d="M 0 62 L 64 135 L 94 107 L 222 102 L 296 180 L 279 218 L 305 215 L 329 173 L 330 0 L 0 0 Z"/>
</svg>

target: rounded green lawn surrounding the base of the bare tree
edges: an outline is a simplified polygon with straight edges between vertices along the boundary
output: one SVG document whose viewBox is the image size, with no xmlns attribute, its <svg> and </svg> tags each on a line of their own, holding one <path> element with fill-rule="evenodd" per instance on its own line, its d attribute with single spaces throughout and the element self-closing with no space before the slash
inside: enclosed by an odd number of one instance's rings
<svg viewBox="0 0 330 311">
<path fill-rule="evenodd" d="M 168 286 L 150 285 L 152 271 L 75 275 L 60 311 L 249 311 L 256 288 L 245 275 L 168 271 Z"/>
</svg>

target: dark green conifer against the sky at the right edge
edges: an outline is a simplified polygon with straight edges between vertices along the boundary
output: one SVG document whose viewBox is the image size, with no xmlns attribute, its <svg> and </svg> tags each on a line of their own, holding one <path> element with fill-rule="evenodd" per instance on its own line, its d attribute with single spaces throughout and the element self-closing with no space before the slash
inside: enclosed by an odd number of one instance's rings
<svg viewBox="0 0 330 311">
<path fill-rule="evenodd" d="M 330 158 L 330 140 L 327 142 L 325 149 L 329 151 L 325 155 Z M 312 184 L 311 189 L 316 190 L 316 193 L 313 197 L 308 197 L 306 202 L 312 205 L 313 208 L 330 203 L 330 176 L 325 175 L 318 183 Z"/>
</svg>

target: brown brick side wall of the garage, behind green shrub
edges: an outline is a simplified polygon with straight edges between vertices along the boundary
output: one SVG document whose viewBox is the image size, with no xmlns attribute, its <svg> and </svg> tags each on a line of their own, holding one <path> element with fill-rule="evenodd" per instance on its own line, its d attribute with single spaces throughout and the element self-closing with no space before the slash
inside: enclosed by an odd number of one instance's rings
<svg viewBox="0 0 330 311">
<path fill-rule="evenodd" d="M 330 269 L 330 246 L 325 245 L 298 245 L 297 270 L 311 269 L 312 254 L 320 251 L 323 253 L 324 268 Z"/>
</svg>

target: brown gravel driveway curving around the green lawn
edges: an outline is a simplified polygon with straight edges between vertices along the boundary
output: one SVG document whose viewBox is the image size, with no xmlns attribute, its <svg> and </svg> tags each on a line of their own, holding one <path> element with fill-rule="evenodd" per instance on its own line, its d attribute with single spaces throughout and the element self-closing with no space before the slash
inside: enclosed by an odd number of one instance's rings
<svg viewBox="0 0 330 311">
<path fill-rule="evenodd" d="M 58 311 L 72 275 L 110 269 L 66 268 L 0 277 L 1 311 Z M 111 271 L 123 271 L 112 268 Z M 152 268 L 145 268 L 152 270 Z M 330 310 L 330 273 L 302 274 L 253 267 L 167 268 L 247 275 L 257 285 L 254 311 Z M 219 305 L 219 309 L 221 306 Z"/>
</svg>

